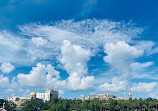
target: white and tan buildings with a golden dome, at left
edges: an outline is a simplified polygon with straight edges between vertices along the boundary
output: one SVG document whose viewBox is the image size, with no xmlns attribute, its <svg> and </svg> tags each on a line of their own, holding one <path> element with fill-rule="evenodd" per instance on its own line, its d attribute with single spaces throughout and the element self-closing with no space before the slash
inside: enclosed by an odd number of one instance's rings
<svg viewBox="0 0 158 111">
<path fill-rule="evenodd" d="M 12 96 L 8 98 L 8 101 L 14 102 L 16 105 L 20 106 L 22 103 L 26 102 L 27 100 L 38 99 L 42 100 L 43 102 L 50 101 L 51 99 L 58 98 L 58 91 L 46 89 L 45 93 L 35 93 L 34 91 L 31 92 L 29 97 L 16 97 Z"/>
</svg>

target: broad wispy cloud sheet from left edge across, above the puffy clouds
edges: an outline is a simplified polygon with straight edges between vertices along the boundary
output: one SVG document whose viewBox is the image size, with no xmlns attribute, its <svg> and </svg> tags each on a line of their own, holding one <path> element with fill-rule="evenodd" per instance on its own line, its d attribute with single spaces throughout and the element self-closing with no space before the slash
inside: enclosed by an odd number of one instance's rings
<svg viewBox="0 0 158 111">
<path fill-rule="evenodd" d="M 93 4 L 92 1 L 88 3 Z M 78 22 L 63 20 L 53 25 L 26 24 L 19 26 L 18 32 L 0 31 L 0 63 L 32 65 L 41 60 L 56 59 L 65 39 L 94 53 L 107 42 L 131 42 L 142 28 L 134 27 L 132 23 L 92 19 Z"/>
</svg>

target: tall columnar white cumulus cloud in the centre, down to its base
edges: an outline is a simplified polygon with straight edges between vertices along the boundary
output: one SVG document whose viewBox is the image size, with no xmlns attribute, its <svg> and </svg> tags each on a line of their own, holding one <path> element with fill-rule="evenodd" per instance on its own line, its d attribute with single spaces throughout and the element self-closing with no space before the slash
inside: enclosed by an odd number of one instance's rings
<svg viewBox="0 0 158 111">
<path fill-rule="evenodd" d="M 64 40 L 61 47 L 61 59 L 64 69 L 68 72 L 67 87 L 71 90 L 83 90 L 93 86 L 94 77 L 87 74 L 87 62 L 90 60 L 90 50 L 72 45 Z"/>
</svg>

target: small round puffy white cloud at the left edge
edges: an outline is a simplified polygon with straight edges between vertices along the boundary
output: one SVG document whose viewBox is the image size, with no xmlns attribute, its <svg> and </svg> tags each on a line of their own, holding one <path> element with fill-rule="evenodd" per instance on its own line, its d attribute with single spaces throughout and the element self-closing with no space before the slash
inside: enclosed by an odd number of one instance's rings
<svg viewBox="0 0 158 111">
<path fill-rule="evenodd" d="M 10 73 L 11 71 L 13 71 L 15 69 L 15 66 L 13 66 L 12 64 L 10 64 L 9 62 L 4 62 L 3 64 L 1 64 L 0 66 L 0 70 L 3 73 Z"/>
</svg>

